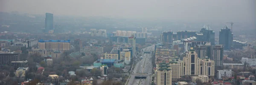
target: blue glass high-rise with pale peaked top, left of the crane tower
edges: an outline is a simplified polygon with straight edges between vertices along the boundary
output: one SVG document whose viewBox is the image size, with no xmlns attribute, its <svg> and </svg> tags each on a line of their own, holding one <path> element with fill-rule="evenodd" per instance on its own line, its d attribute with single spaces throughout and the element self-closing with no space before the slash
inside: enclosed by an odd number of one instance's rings
<svg viewBox="0 0 256 85">
<path fill-rule="evenodd" d="M 201 41 L 208 41 L 211 45 L 215 45 L 215 32 L 210 29 L 209 25 L 204 25 L 204 27 L 200 30 L 200 33 L 202 33 L 203 36 Z"/>
</svg>

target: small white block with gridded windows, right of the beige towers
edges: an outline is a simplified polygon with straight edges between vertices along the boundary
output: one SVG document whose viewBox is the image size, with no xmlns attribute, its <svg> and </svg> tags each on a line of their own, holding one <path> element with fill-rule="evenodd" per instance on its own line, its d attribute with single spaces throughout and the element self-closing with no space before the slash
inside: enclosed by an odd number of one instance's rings
<svg viewBox="0 0 256 85">
<path fill-rule="evenodd" d="M 231 69 L 217 70 L 216 76 L 218 79 L 222 79 L 223 76 L 232 77 L 232 70 Z"/>
</svg>

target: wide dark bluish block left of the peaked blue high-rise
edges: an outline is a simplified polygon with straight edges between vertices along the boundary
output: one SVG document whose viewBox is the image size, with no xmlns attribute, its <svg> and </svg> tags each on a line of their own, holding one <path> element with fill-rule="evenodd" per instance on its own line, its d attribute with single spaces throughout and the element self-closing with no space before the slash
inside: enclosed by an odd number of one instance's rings
<svg viewBox="0 0 256 85">
<path fill-rule="evenodd" d="M 183 38 L 195 37 L 196 33 L 198 33 L 198 31 L 196 30 L 179 30 L 177 31 L 177 40 L 181 40 Z"/>
</svg>

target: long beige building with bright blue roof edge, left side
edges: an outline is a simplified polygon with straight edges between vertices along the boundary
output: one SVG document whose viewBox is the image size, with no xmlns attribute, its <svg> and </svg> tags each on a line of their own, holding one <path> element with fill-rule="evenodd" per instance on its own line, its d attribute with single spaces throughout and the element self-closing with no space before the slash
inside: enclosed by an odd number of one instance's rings
<svg viewBox="0 0 256 85">
<path fill-rule="evenodd" d="M 39 49 L 52 49 L 52 50 L 70 50 L 70 40 L 67 41 L 60 41 L 60 40 L 39 40 L 38 41 L 38 47 Z"/>
</svg>

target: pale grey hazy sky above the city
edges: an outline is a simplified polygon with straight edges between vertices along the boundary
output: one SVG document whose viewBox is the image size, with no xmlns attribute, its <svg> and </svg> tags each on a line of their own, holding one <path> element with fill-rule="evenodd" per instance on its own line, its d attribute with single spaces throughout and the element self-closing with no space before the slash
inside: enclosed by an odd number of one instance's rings
<svg viewBox="0 0 256 85">
<path fill-rule="evenodd" d="M 255 3 L 255 0 L 0 0 L 0 11 L 151 19 L 227 19 L 231 21 L 254 20 Z"/>
</svg>

